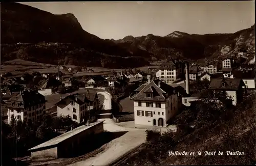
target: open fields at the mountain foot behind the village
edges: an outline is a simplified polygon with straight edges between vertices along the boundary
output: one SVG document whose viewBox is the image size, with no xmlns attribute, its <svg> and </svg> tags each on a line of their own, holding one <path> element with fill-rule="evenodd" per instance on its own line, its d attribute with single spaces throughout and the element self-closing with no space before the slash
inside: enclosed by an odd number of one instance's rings
<svg viewBox="0 0 256 166">
<path fill-rule="evenodd" d="M 36 62 L 30 62 L 25 60 L 12 60 L 12 61 L 6 61 L 5 63 L 8 63 L 7 65 L 1 65 L 1 74 L 11 72 L 13 76 L 21 76 L 25 72 L 27 73 L 33 73 L 34 71 L 38 71 L 40 73 L 54 73 L 57 72 L 58 67 L 57 65 L 50 65 L 50 64 L 42 64 L 42 63 L 36 63 Z M 152 64 L 153 66 L 144 66 L 139 67 L 137 69 L 141 71 L 147 71 L 148 67 L 151 68 L 158 68 L 157 64 Z M 67 68 L 72 67 L 75 68 L 77 66 L 74 65 L 65 65 Z M 112 71 L 121 72 L 121 69 L 108 69 L 108 68 L 102 68 L 102 67 L 88 67 L 88 69 L 94 70 L 94 73 L 89 72 L 71 72 L 74 77 L 83 76 L 83 75 L 108 75 L 112 74 Z M 61 72 L 65 74 L 69 74 L 68 71 Z"/>
</svg>

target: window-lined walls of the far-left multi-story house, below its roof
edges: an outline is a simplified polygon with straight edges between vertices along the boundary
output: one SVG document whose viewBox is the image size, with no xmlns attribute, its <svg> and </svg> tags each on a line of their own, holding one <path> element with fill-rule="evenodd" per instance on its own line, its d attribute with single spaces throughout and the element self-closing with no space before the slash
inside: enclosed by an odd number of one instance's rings
<svg viewBox="0 0 256 166">
<path fill-rule="evenodd" d="M 26 107 L 19 112 L 16 109 L 8 108 L 8 124 L 11 122 L 11 117 L 21 121 L 38 121 L 42 119 L 42 116 L 45 114 L 45 108 L 45 103 Z"/>
</svg>

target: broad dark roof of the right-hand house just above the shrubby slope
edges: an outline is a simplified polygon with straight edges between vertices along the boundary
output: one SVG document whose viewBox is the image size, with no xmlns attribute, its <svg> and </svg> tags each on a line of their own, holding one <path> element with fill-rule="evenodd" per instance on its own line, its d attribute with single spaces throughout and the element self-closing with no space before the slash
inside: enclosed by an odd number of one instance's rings
<svg viewBox="0 0 256 166">
<path fill-rule="evenodd" d="M 214 78 L 211 79 L 209 88 L 210 89 L 230 89 L 230 90 L 238 90 L 240 84 L 243 84 L 243 81 L 241 79 L 223 79 L 223 78 Z"/>
</svg>

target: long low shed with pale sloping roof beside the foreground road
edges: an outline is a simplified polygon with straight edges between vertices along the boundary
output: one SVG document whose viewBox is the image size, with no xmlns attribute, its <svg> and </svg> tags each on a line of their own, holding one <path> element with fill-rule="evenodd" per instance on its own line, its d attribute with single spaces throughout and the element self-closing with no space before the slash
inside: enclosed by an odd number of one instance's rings
<svg viewBox="0 0 256 166">
<path fill-rule="evenodd" d="M 102 133 L 103 121 L 83 125 L 69 132 L 63 133 L 52 140 L 29 149 L 32 158 L 64 158 L 70 157 L 77 148 L 83 148 L 89 137 Z"/>
</svg>

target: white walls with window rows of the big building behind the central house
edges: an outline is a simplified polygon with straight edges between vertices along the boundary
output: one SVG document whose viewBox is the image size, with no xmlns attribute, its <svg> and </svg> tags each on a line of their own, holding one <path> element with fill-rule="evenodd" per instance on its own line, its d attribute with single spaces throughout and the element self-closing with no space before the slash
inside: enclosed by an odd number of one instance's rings
<svg viewBox="0 0 256 166">
<path fill-rule="evenodd" d="M 180 77 L 181 69 L 158 70 L 156 76 L 166 84 L 172 84 L 177 78 Z"/>
</svg>

